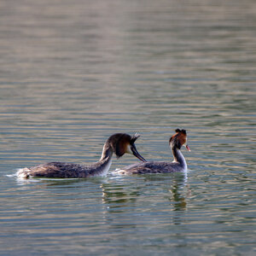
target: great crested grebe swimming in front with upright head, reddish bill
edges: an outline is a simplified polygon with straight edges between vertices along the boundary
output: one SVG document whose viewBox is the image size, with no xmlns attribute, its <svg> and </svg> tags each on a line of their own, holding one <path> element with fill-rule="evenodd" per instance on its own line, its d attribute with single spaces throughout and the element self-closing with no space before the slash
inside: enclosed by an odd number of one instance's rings
<svg viewBox="0 0 256 256">
<path fill-rule="evenodd" d="M 170 138 L 169 144 L 172 148 L 172 162 L 144 162 L 123 169 L 118 169 L 119 174 L 146 174 L 146 173 L 167 173 L 167 172 L 186 172 L 187 163 L 180 149 L 184 145 L 189 151 L 187 144 L 187 132 L 185 130 L 176 130 L 176 133 Z"/>
</svg>

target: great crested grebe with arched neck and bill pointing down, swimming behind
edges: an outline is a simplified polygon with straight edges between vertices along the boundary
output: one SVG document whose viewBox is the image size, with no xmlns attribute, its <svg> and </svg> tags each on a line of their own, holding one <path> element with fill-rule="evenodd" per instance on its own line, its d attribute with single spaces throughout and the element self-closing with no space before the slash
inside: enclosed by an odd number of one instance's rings
<svg viewBox="0 0 256 256">
<path fill-rule="evenodd" d="M 17 172 L 17 177 L 97 177 L 106 176 L 112 163 L 113 153 L 117 158 L 125 153 L 134 154 L 139 160 L 144 160 L 135 147 L 138 134 L 130 136 L 126 133 L 116 133 L 108 138 L 103 146 L 101 159 L 93 165 L 84 166 L 62 162 L 51 162 L 31 168 L 24 168 Z"/>
</svg>

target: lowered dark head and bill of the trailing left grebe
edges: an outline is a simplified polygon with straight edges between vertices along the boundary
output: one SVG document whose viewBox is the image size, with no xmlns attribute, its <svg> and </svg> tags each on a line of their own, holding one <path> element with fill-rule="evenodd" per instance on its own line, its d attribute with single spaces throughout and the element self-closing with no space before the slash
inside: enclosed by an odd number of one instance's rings
<svg viewBox="0 0 256 256">
<path fill-rule="evenodd" d="M 121 157 L 125 153 L 128 153 L 134 154 L 139 160 L 145 162 L 146 160 L 137 152 L 137 148 L 134 144 L 138 137 L 140 137 L 140 135 L 137 133 L 132 137 L 126 133 L 116 133 L 109 137 L 108 142 L 117 158 Z"/>
</svg>

